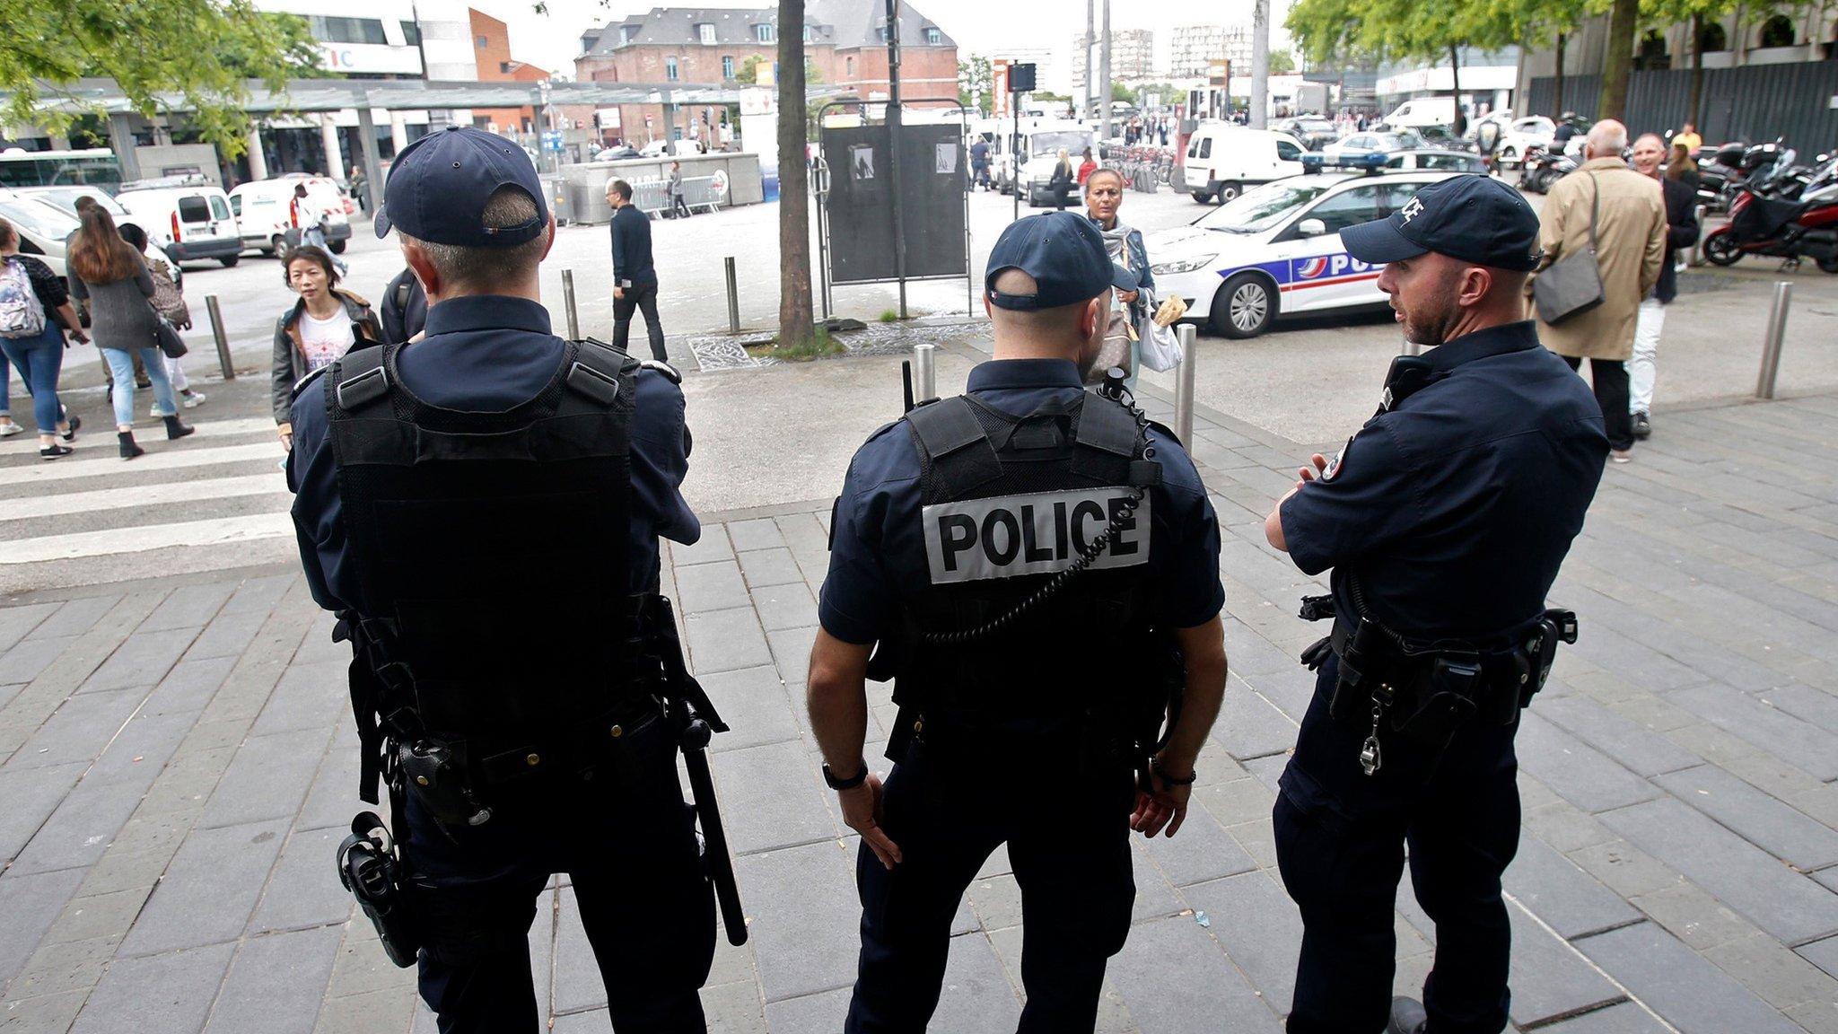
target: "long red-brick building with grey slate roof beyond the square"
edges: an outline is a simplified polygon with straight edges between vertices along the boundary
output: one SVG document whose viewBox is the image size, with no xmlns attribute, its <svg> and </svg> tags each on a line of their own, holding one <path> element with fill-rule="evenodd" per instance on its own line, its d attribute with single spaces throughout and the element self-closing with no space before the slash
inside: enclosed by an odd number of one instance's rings
<svg viewBox="0 0 1838 1034">
<path fill-rule="evenodd" d="M 652 7 L 583 35 L 575 79 L 665 88 L 739 86 L 748 57 L 768 66 L 777 61 L 777 7 Z M 855 90 L 862 98 L 886 96 L 882 0 L 811 0 L 800 31 L 812 83 Z M 958 98 L 956 40 L 910 6 L 902 6 L 901 15 L 901 94 L 906 99 Z M 572 109 L 566 114 L 583 118 Z M 623 138 L 643 145 L 664 136 L 706 138 L 709 127 L 719 129 L 722 110 L 719 105 L 695 105 L 676 109 L 675 116 L 671 125 L 664 105 L 619 105 L 618 125 L 610 125 L 610 112 L 601 120 L 601 140 Z"/>
</svg>

